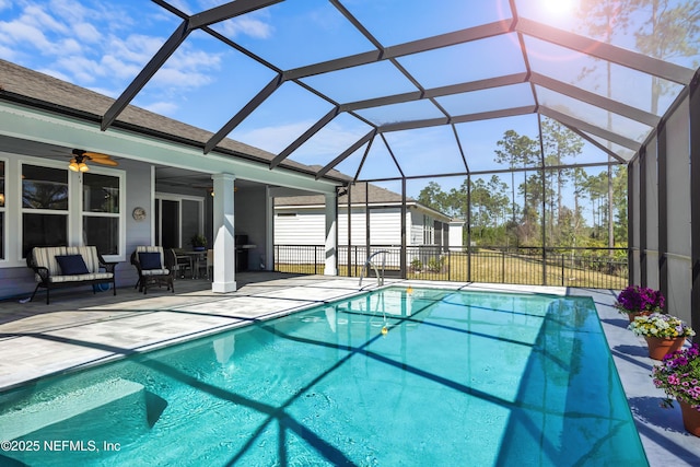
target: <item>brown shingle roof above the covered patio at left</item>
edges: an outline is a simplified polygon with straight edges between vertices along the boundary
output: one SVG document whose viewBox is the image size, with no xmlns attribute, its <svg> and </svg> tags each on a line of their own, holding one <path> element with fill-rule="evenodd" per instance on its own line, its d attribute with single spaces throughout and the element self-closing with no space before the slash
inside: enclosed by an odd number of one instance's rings
<svg viewBox="0 0 700 467">
<path fill-rule="evenodd" d="M 63 115 L 71 115 L 84 120 L 100 124 L 102 116 L 115 102 L 114 98 L 98 94 L 48 74 L 30 70 L 19 65 L 0 59 L 0 100 L 27 105 Z M 115 127 L 164 138 L 183 144 L 205 148 L 212 132 L 164 117 L 135 105 L 124 109 L 114 124 Z M 244 157 L 269 164 L 276 156 L 259 148 L 234 141 L 222 140 L 215 152 Z M 315 174 L 307 165 L 291 160 L 283 161 L 280 166 Z M 338 179 L 338 174 L 328 178 Z M 347 177 L 342 177 L 347 180 Z"/>
</svg>

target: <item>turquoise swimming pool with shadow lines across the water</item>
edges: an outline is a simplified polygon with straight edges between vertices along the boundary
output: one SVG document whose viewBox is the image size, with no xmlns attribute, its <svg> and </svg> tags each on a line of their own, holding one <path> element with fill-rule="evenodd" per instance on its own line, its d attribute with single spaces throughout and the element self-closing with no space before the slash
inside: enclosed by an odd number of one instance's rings
<svg viewBox="0 0 700 467">
<path fill-rule="evenodd" d="M 386 289 L 8 392 L 0 429 L 0 464 L 646 465 L 593 301 L 550 295 Z"/>
</svg>

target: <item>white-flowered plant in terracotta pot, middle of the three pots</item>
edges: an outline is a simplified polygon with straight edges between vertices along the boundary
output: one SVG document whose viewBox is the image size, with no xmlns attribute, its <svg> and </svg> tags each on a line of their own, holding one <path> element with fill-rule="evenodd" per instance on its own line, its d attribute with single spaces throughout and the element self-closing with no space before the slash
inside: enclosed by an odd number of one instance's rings
<svg viewBox="0 0 700 467">
<path fill-rule="evenodd" d="M 649 357 L 654 360 L 662 360 L 667 353 L 680 349 L 687 337 L 696 335 L 685 322 L 663 313 L 639 315 L 628 329 L 646 340 Z"/>
</svg>

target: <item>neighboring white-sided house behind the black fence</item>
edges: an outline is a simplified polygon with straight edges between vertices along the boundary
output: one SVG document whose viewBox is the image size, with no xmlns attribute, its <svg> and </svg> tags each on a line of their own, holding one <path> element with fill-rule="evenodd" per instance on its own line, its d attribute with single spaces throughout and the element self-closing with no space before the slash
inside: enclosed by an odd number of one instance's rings
<svg viewBox="0 0 700 467">
<path fill-rule="evenodd" d="M 401 245 L 401 195 L 372 184 L 352 185 L 338 197 L 338 245 L 348 245 L 348 191 L 350 235 L 353 246 L 366 245 L 366 212 L 370 245 Z M 275 198 L 275 245 L 323 245 L 325 238 L 323 196 Z M 464 221 L 453 221 L 412 198 L 406 199 L 406 245 L 462 248 Z M 451 234 L 452 229 L 452 234 Z M 458 232 L 458 234 L 457 234 Z M 301 234 L 301 235 L 300 235 Z"/>
</svg>

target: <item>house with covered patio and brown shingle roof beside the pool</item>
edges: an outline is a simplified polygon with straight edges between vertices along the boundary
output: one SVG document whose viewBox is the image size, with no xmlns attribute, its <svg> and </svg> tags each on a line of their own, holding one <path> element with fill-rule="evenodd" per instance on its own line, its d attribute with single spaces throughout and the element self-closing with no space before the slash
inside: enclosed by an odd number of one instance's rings
<svg viewBox="0 0 700 467">
<path fill-rule="evenodd" d="M 132 105 L 102 131 L 114 102 L 0 60 L 0 297 L 33 290 L 33 246 L 96 245 L 120 285 L 136 283 L 136 246 L 190 249 L 195 234 L 214 249 L 212 290 L 233 291 L 236 238 L 270 267 L 276 190 L 335 206 L 347 183 L 293 161 L 271 171 L 273 154 L 231 139 L 205 154 L 210 132 Z"/>
</svg>

